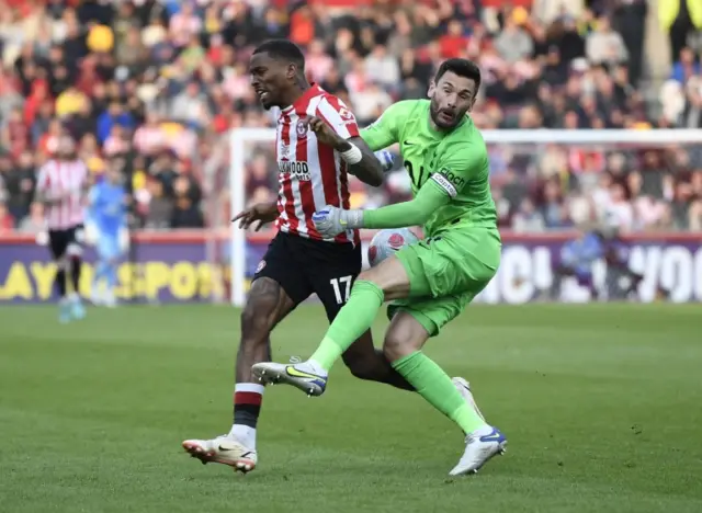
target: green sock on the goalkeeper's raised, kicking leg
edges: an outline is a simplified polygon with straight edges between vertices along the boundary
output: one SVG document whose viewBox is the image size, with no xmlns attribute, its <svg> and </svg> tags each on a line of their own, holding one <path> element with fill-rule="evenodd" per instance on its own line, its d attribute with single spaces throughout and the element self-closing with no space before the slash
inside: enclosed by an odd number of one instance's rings
<svg viewBox="0 0 702 513">
<path fill-rule="evenodd" d="M 341 308 L 309 360 L 329 372 L 344 351 L 373 324 L 384 299 L 385 294 L 373 282 L 355 282 L 349 301 Z"/>
</svg>

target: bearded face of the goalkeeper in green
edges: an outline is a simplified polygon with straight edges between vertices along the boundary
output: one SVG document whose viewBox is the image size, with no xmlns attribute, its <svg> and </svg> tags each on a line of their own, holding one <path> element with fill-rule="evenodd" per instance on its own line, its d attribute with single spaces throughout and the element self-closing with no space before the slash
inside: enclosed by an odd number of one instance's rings
<svg viewBox="0 0 702 513">
<path fill-rule="evenodd" d="M 439 128 L 453 128 L 475 103 L 475 80 L 446 71 L 429 86 L 431 119 Z"/>
</svg>

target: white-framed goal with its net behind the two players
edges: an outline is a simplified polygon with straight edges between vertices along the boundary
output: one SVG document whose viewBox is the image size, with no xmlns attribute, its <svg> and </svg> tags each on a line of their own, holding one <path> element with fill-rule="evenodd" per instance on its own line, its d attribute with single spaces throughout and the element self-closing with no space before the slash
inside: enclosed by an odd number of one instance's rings
<svg viewBox="0 0 702 513">
<path fill-rule="evenodd" d="M 702 300 L 702 130 L 483 134 L 503 251 L 498 275 L 477 300 L 626 299 L 632 280 L 637 282 L 635 296 L 639 300 L 654 300 L 661 290 L 673 301 Z M 273 128 L 233 130 L 233 216 L 275 197 L 274 141 Z M 400 157 L 382 187 L 351 181 L 353 207 L 374 208 L 410 197 Z M 598 227 L 619 233 L 612 246 L 614 254 L 608 253 L 591 265 L 588 280 L 578 275 L 582 266 L 564 272 L 564 246 L 581 229 Z M 272 236 L 270 227 L 253 232 L 231 225 L 226 243 L 234 305 L 245 304 L 250 280 Z M 371 232 L 363 232 L 364 243 L 371 237 Z"/>
</svg>

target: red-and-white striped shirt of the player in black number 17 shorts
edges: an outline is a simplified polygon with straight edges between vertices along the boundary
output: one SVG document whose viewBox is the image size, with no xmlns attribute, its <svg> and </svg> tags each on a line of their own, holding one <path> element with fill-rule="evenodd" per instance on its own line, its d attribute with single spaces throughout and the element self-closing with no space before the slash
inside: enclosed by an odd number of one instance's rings
<svg viewBox="0 0 702 513">
<path fill-rule="evenodd" d="M 344 139 L 359 136 L 353 113 L 333 94 L 316 84 L 293 105 L 281 111 L 278 119 L 275 158 L 280 190 L 275 226 L 301 237 L 359 243 L 358 230 L 333 239 L 324 239 L 315 229 L 312 216 L 325 205 L 348 209 L 349 176 L 347 163 L 330 146 L 319 144 L 304 123 L 307 116 L 325 121 Z"/>
</svg>

